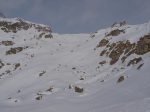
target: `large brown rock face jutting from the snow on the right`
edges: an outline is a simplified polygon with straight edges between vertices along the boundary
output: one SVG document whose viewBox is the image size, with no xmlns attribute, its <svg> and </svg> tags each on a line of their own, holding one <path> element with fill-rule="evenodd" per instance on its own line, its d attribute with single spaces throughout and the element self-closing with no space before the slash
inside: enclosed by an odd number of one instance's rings
<svg viewBox="0 0 150 112">
<path fill-rule="evenodd" d="M 119 36 L 121 33 L 125 33 L 125 31 L 117 28 L 108 32 L 105 37 L 101 39 L 97 45 L 97 48 L 103 49 L 100 52 L 100 56 L 109 57 L 110 65 L 117 63 L 119 60 L 124 63 L 131 55 L 137 55 L 137 57 L 129 60 L 127 66 L 134 65 L 142 61 L 142 57 L 140 57 L 140 55 L 150 52 L 150 34 L 140 37 L 137 42 L 130 42 L 130 40 L 111 42 L 114 38 L 118 38 L 114 36 Z"/>
</svg>

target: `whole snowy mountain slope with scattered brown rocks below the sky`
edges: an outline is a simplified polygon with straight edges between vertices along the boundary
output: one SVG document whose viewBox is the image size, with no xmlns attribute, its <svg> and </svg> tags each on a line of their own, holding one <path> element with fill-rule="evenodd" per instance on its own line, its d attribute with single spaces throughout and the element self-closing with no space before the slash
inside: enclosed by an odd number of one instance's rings
<svg viewBox="0 0 150 112">
<path fill-rule="evenodd" d="M 1 112 L 149 112 L 150 23 L 92 34 L 0 18 Z"/>
</svg>

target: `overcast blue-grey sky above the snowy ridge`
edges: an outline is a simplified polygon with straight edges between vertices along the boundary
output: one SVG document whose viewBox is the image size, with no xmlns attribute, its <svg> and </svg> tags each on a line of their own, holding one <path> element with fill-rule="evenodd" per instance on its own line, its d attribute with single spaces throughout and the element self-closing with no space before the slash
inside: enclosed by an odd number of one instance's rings
<svg viewBox="0 0 150 112">
<path fill-rule="evenodd" d="M 150 0 L 0 0 L 7 17 L 47 24 L 58 33 L 95 32 L 122 20 L 150 20 Z"/>
</svg>

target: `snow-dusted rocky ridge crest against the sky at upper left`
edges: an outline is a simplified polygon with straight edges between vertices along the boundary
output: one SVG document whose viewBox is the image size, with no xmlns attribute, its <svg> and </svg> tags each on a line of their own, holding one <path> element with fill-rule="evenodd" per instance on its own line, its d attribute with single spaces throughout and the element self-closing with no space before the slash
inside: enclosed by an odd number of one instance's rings
<svg viewBox="0 0 150 112">
<path fill-rule="evenodd" d="M 13 21 L 11 21 L 11 19 L 0 19 L 0 29 L 5 33 L 17 33 L 19 31 L 27 31 L 32 28 L 39 32 L 38 39 L 53 38 L 51 34 L 52 30 L 48 26 L 31 23 L 20 18 L 15 18 Z"/>
</svg>

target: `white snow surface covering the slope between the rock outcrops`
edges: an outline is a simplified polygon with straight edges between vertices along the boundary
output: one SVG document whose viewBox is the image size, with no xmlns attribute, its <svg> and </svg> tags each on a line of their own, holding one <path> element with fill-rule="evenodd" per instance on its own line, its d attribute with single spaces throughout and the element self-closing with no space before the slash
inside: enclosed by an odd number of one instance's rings
<svg viewBox="0 0 150 112">
<path fill-rule="evenodd" d="M 126 33 L 112 37 L 111 42 L 136 42 L 150 33 L 150 23 L 121 28 Z M 0 30 L 0 41 L 15 42 L 13 46 L 0 45 L 0 60 L 21 64 L 16 70 L 12 65 L 0 69 L 0 74 L 11 70 L 0 79 L 0 112 L 150 112 L 150 53 L 142 56 L 140 70 L 138 65 L 121 69 L 124 65 L 119 62 L 97 69 L 100 61 L 110 59 L 99 56 L 102 48 L 94 48 L 111 29 L 99 30 L 93 38 L 91 34 L 53 33 L 52 39 L 34 38 L 39 34 L 34 28 L 17 33 Z M 5 55 L 19 46 L 29 47 Z M 117 83 L 121 75 L 126 78 Z M 83 92 L 75 92 L 75 86 Z M 47 91 L 50 87 L 52 91 Z M 36 100 L 40 95 L 42 99 Z"/>
</svg>

